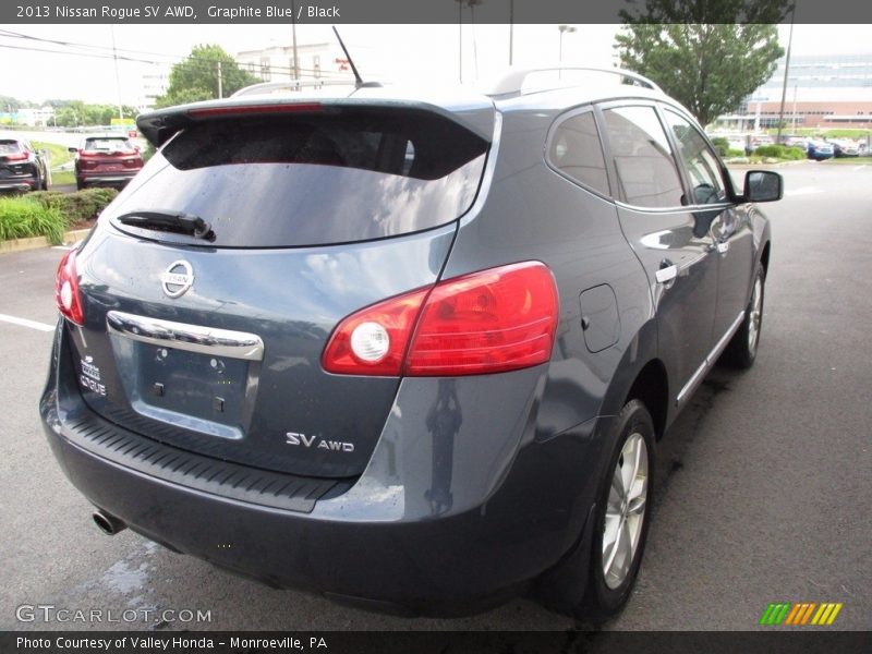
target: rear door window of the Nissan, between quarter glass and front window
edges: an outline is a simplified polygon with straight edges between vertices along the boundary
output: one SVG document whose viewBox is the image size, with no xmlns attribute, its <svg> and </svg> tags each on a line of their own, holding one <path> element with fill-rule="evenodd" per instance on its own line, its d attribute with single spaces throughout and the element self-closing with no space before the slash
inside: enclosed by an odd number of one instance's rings
<svg viewBox="0 0 872 654">
<path fill-rule="evenodd" d="M 681 179 L 654 108 L 619 107 L 603 113 L 625 202 L 638 207 L 681 206 Z"/>
</svg>

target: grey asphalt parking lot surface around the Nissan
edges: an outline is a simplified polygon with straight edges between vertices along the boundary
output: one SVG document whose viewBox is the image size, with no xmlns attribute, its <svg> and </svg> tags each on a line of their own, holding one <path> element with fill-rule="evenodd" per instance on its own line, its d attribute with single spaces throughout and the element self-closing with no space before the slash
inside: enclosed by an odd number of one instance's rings
<svg viewBox="0 0 872 654">
<path fill-rule="evenodd" d="M 716 370 L 662 443 L 639 584 L 608 629 L 754 629 L 771 602 L 843 603 L 833 628 L 872 628 L 872 167 L 780 172 L 786 196 L 763 207 L 773 250 L 756 364 Z M 522 598 L 455 620 L 375 615 L 232 577 L 130 530 L 104 536 L 37 415 L 60 256 L 0 255 L 0 629 L 577 627 Z M 143 617 L 46 622 L 22 605 Z M 183 611 L 208 619 L 173 621 Z"/>
</svg>

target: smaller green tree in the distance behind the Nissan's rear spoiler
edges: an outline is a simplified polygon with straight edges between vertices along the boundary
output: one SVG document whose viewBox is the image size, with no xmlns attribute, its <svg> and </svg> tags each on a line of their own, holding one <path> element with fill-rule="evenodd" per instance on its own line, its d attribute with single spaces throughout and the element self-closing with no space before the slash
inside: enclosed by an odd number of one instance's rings
<svg viewBox="0 0 872 654">
<path fill-rule="evenodd" d="M 227 97 L 243 86 L 256 84 L 257 77 L 239 68 L 233 58 L 220 46 L 195 46 L 191 55 L 172 66 L 170 86 L 157 100 L 158 107 L 210 100 L 220 93 Z"/>
</svg>

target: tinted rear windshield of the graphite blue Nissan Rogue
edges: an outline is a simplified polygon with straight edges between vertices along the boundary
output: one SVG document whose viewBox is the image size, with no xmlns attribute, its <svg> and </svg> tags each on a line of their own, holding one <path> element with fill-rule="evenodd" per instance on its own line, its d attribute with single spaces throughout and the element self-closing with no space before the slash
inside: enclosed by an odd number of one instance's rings
<svg viewBox="0 0 872 654">
<path fill-rule="evenodd" d="M 445 225 L 469 210 L 487 142 L 426 111 L 331 109 L 195 123 L 156 154 L 111 216 L 184 211 L 215 241 L 122 231 L 211 247 L 365 241 Z"/>
</svg>

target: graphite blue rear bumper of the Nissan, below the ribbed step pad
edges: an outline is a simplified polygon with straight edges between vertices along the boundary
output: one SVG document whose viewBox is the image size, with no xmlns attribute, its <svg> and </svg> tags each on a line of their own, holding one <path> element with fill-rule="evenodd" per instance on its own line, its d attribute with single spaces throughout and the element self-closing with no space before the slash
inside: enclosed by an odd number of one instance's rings
<svg viewBox="0 0 872 654">
<path fill-rule="evenodd" d="M 429 455 L 427 448 L 403 453 L 404 445 L 383 435 L 361 477 L 291 510 L 146 474 L 83 446 L 76 425 L 90 410 L 64 372 L 71 364 L 64 363 L 60 334 L 40 402 L 56 458 L 96 507 L 172 549 L 274 586 L 377 610 L 462 615 L 523 590 L 582 533 L 596 482 L 596 421 L 547 443 L 518 434 L 493 484 L 482 483 L 492 472 L 487 465 L 493 470 L 498 462 L 487 452 L 485 436 L 475 449 L 489 461 L 449 460 L 453 473 L 446 479 L 438 473 L 444 457 L 468 456 L 462 444 L 451 451 L 434 444 Z M 402 429 L 405 444 L 414 439 L 413 404 L 410 400 L 400 412 L 411 415 Z M 464 421 L 471 419 L 464 414 Z M 145 457 L 136 448 L 130 456 Z M 414 459 L 419 465 L 411 464 Z"/>
</svg>

